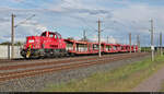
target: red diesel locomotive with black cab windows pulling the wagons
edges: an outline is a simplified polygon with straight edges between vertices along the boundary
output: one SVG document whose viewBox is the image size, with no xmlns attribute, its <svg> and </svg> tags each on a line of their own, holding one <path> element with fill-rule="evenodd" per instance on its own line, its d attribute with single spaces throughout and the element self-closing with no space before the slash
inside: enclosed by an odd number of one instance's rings
<svg viewBox="0 0 164 94">
<path fill-rule="evenodd" d="M 24 58 L 65 56 L 66 43 L 57 32 L 44 32 L 40 36 L 27 36 L 21 51 Z"/>
</svg>

